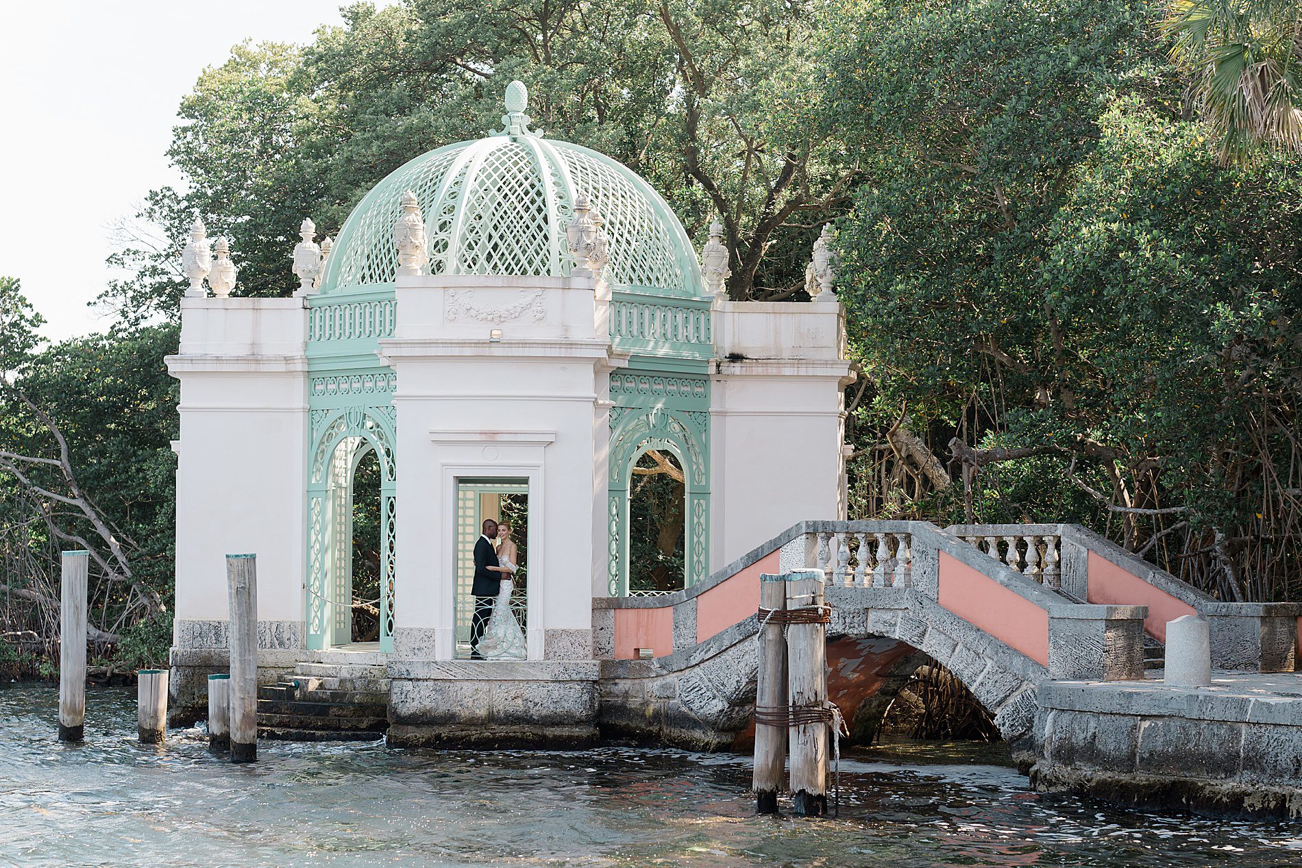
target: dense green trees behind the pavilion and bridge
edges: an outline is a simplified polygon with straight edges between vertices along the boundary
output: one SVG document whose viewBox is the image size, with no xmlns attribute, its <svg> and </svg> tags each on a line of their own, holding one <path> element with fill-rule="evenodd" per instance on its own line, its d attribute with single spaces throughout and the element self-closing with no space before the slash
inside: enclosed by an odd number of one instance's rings
<svg viewBox="0 0 1302 868">
<path fill-rule="evenodd" d="M 1223 599 L 1297 599 L 1298 10 L 408 0 L 234 46 L 181 100 L 184 183 L 124 226 L 108 334 L 42 346 L 0 278 L 4 618 L 44 629 L 74 535 L 103 561 L 92 623 L 141 660 L 167 643 L 163 358 L 194 213 L 232 238 L 236 294 L 288 294 L 305 216 L 335 234 L 388 172 L 495 126 L 513 78 L 698 246 L 720 220 L 733 298 L 803 299 L 835 225 L 852 517 L 1083 522 Z M 672 567 L 672 474 L 642 470 L 642 544 Z"/>
</svg>

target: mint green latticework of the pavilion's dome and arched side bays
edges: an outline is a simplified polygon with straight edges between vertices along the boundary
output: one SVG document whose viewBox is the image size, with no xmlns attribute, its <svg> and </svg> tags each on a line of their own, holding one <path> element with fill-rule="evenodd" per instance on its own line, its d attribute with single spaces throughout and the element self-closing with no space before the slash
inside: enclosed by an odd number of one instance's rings
<svg viewBox="0 0 1302 868">
<path fill-rule="evenodd" d="M 392 394 L 376 359 L 397 321 L 393 226 L 411 190 L 424 215 L 431 275 L 569 276 L 565 229 L 586 194 L 609 243 L 611 341 L 630 357 L 611 377 L 609 557 L 612 595 L 629 592 L 629 480 L 648 449 L 672 453 L 686 476 L 684 584 L 708 574 L 711 299 L 682 224 L 631 169 L 529 129 L 527 94 L 506 92 L 504 130 L 424 154 L 380 181 L 349 215 L 309 301 L 307 640 L 348 642 L 352 474 L 374 449 L 383 470 L 381 629 L 392 648 L 397 479 Z M 460 511 L 458 495 L 458 517 Z M 471 532 L 473 531 L 473 532 Z M 478 530 L 458 524 L 460 550 Z M 460 556 L 458 556 L 460 557 Z M 460 561 L 458 561 L 460 563 Z M 458 567 L 460 569 L 460 567 Z M 460 575 L 460 574 L 458 574 Z M 469 625 L 458 578 L 458 638 Z M 523 604 L 521 604 L 523 605 Z M 521 617 L 523 618 L 523 612 Z"/>
</svg>

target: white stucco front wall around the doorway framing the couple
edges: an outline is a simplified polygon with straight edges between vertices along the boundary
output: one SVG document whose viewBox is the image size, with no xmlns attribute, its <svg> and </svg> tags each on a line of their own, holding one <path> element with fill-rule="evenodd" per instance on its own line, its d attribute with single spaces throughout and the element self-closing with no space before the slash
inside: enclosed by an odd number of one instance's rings
<svg viewBox="0 0 1302 868">
<path fill-rule="evenodd" d="M 591 627 L 594 389 L 609 350 L 591 282 L 400 277 L 397 298 L 398 328 L 380 342 L 398 383 L 396 630 L 432 629 L 436 656 L 453 656 L 456 479 L 523 476 L 539 658 L 546 631 Z"/>
</svg>

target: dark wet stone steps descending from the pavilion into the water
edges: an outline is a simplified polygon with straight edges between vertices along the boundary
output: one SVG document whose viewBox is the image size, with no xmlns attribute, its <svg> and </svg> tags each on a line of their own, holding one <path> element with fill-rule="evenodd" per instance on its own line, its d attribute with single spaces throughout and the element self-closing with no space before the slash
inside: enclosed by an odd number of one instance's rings
<svg viewBox="0 0 1302 868">
<path fill-rule="evenodd" d="M 259 738 L 374 742 L 389 727 L 389 679 L 378 651 L 322 651 L 293 678 L 258 688 Z"/>
</svg>

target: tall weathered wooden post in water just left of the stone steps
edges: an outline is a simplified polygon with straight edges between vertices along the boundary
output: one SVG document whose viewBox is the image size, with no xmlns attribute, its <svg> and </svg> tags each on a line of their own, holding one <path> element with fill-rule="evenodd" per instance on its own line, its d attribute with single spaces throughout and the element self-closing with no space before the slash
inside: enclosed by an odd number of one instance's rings
<svg viewBox="0 0 1302 868">
<path fill-rule="evenodd" d="M 230 590 L 230 761 L 258 759 L 258 569 L 253 554 L 227 556 Z"/>
</svg>

